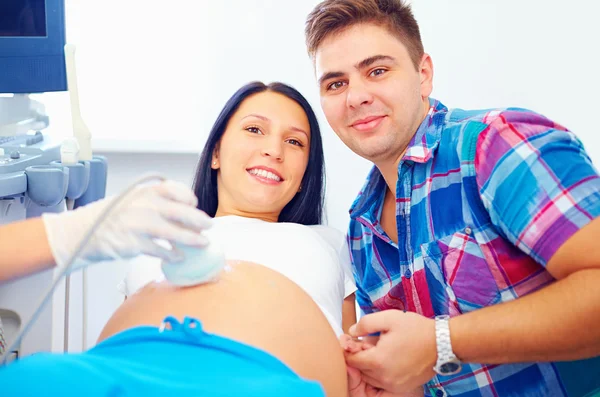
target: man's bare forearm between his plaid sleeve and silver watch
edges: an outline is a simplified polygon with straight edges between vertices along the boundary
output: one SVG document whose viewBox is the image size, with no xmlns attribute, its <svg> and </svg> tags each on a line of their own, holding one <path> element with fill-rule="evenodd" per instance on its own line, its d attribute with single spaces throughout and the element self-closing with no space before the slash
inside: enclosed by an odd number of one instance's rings
<svg viewBox="0 0 600 397">
<path fill-rule="evenodd" d="M 600 354 L 600 269 L 581 270 L 531 295 L 450 320 L 464 362 L 502 364 Z"/>
</svg>

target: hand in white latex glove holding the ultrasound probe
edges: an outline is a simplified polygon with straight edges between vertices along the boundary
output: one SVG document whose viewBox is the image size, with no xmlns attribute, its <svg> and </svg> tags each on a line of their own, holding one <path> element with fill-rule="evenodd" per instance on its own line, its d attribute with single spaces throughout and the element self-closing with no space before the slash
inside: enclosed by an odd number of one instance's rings
<svg viewBox="0 0 600 397">
<path fill-rule="evenodd" d="M 73 211 L 42 215 L 57 266 L 67 265 L 87 230 L 115 199 L 106 198 Z M 72 270 L 92 261 L 131 258 L 140 254 L 169 262 L 183 259 L 179 251 L 167 248 L 164 240 L 196 247 L 208 243 L 200 233 L 210 227 L 212 218 L 196 209 L 196 205 L 192 190 L 179 182 L 165 181 L 134 188 L 99 224 Z"/>
</svg>

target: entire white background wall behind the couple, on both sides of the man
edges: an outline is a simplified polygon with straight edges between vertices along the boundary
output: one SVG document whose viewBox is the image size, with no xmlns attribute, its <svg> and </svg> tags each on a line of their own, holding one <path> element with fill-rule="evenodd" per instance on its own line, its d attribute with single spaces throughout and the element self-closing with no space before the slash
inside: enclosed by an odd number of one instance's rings
<svg viewBox="0 0 600 397">
<path fill-rule="evenodd" d="M 328 218 L 344 230 L 370 166 L 338 141 L 319 107 L 303 43 L 304 18 L 316 3 L 67 0 L 82 112 L 96 149 L 109 151 L 108 193 L 151 170 L 189 182 L 195 152 L 225 100 L 249 80 L 282 80 L 307 96 L 321 121 Z M 450 107 L 536 110 L 578 134 L 600 164 L 597 2 L 412 3 L 433 57 L 434 97 Z M 44 98 L 55 127 L 68 131 L 66 96 Z M 90 270 L 92 343 L 120 302 L 121 265 Z"/>
</svg>

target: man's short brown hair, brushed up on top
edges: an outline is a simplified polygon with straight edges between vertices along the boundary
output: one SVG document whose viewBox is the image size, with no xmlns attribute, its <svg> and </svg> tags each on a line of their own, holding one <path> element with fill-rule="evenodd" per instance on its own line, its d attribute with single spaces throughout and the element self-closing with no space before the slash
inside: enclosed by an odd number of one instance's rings
<svg viewBox="0 0 600 397">
<path fill-rule="evenodd" d="M 418 69 L 424 53 L 421 33 L 410 5 L 404 0 L 322 1 L 306 19 L 308 54 L 314 58 L 323 40 L 360 23 L 372 23 L 386 28 L 406 46 L 415 68 Z"/>
</svg>

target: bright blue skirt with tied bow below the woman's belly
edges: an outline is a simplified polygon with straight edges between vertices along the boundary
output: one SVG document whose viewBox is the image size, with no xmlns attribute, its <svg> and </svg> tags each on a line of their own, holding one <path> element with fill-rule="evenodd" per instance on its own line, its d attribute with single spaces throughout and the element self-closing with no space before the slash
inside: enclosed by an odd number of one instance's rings
<svg viewBox="0 0 600 397">
<path fill-rule="evenodd" d="M 164 325 L 167 325 L 164 327 Z M 2 396 L 324 397 L 276 357 L 167 317 L 82 353 L 37 353 L 0 367 Z"/>
</svg>

